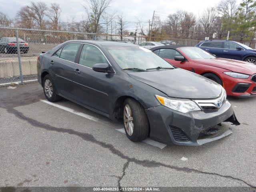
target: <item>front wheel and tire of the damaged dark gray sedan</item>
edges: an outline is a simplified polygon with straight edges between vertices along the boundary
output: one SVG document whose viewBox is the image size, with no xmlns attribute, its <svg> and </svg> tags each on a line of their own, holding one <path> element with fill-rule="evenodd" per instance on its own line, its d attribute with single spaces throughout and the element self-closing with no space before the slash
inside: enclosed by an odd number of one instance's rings
<svg viewBox="0 0 256 192">
<path fill-rule="evenodd" d="M 127 113 L 130 108 L 130 114 Z M 130 119 L 130 120 L 129 120 Z M 149 136 L 149 122 L 143 106 L 136 100 L 128 98 L 123 106 L 123 123 L 126 136 L 131 141 L 141 141 Z M 133 130 L 131 131 L 131 124 Z"/>
</svg>

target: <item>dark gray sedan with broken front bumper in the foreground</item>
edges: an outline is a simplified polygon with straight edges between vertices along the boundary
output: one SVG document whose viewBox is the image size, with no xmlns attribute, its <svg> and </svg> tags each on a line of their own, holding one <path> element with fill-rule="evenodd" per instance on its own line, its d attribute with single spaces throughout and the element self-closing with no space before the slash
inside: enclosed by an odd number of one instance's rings
<svg viewBox="0 0 256 192">
<path fill-rule="evenodd" d="M 232 133 L 217 124 L 239 124 L 222 86 L 140 46 L 72 40 L 40 54 L 37 69 L 49 101 L 122 118 L 132 141 L 196 146 Z"/>
</svg>

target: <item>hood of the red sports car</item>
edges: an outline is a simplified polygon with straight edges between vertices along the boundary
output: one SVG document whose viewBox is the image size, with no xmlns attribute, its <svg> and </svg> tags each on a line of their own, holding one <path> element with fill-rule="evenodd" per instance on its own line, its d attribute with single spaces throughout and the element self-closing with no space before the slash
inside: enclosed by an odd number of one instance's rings
<svg viewBox="0 0 256 192">
<path fill-rule="evenodd" d="M 216 59 L 194 59 L 195 63 L 215 66 L 219 68 L 224 68 L 233 72 L 244 73 L 244 74 L 255 74 L 256 65 L 249 62 L 225 59 L 225 58 L 216 58 Z"/>
</svg>

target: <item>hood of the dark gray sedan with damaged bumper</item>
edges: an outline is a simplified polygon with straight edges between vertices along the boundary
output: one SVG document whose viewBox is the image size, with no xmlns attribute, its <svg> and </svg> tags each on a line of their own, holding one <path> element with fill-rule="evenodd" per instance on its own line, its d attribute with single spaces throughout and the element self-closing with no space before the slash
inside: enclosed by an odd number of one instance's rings
<svg viewBox="0 0 256 192">
<path fill-rule="evenodd" d="M 128 75 L 174 98 L 210 99 L 222 92 L 221 86 L 214 81 L 180 68 L 128 72 Z"/>
</svg>

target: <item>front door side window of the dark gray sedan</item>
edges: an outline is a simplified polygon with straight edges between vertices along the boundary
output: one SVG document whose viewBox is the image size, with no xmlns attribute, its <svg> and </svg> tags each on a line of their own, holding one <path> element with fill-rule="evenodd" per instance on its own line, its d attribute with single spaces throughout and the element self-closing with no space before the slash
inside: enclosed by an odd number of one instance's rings
<svg viewBox="0 0 256 192">
<path fill-rule="evenodd" d="M 108 61 L 96 46 L 85 44 L 81 52 L 79 64 L 92 68 L 94 64 L 98 63 L 108 63 Z"/>
</svg>

